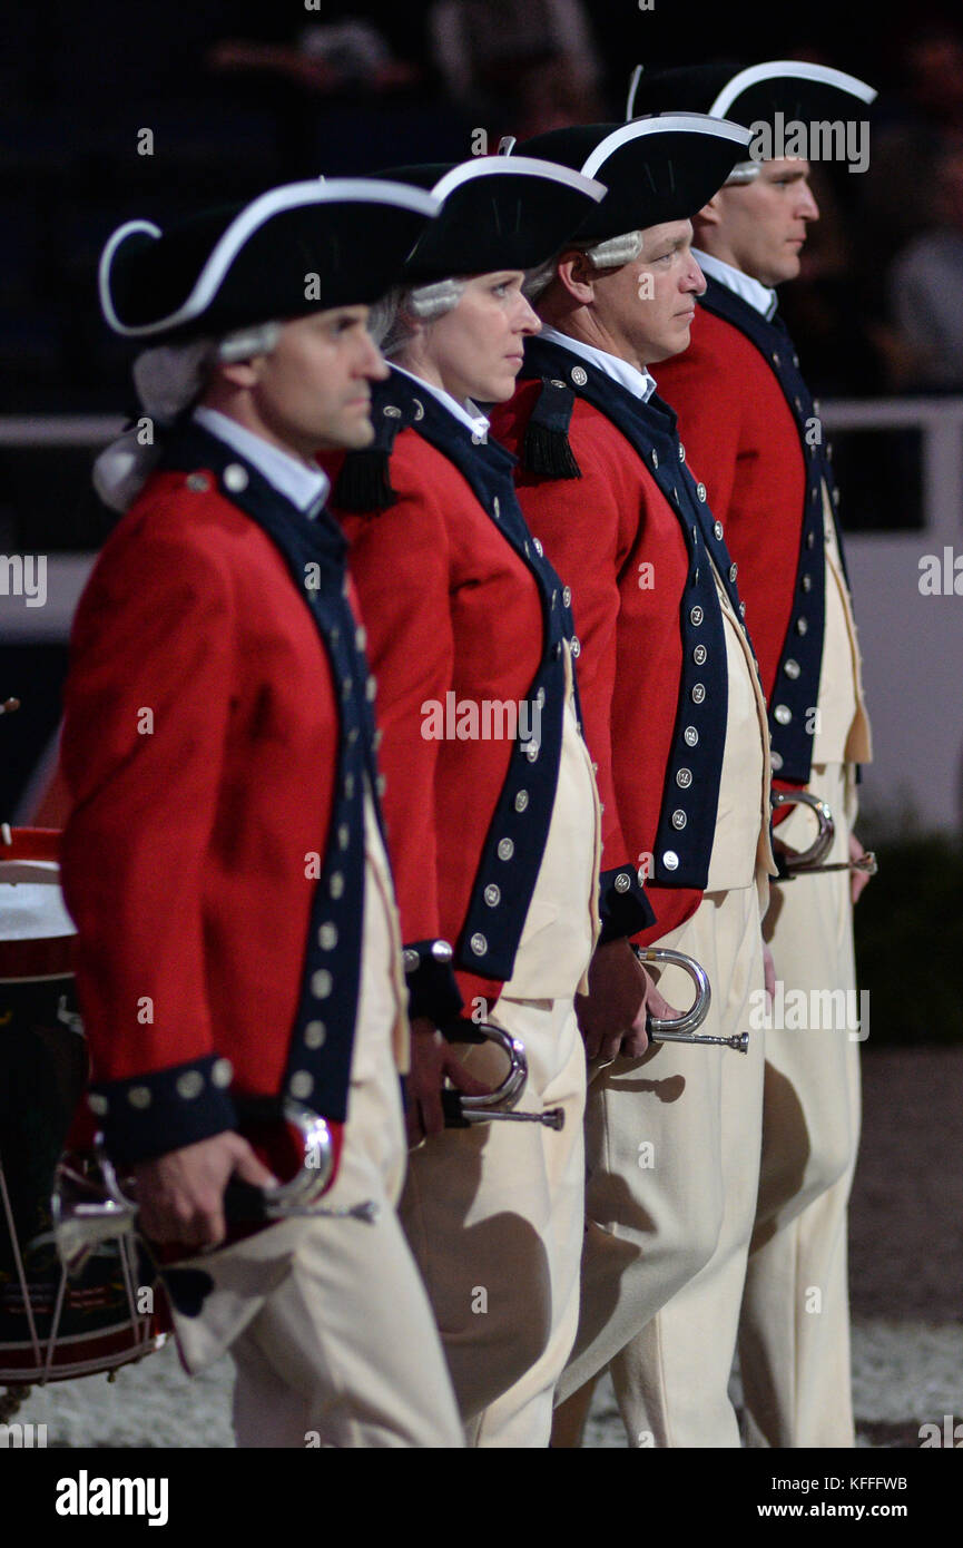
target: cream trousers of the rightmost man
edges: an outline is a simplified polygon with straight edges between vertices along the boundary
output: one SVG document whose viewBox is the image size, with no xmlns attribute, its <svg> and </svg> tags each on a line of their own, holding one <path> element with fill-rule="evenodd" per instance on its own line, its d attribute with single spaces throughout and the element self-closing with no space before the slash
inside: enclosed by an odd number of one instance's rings
<svg viewBox="0 0 963 1548">
<path fill-rule="evenodd" d="M 845 765 L 813 768 L 810 789 L 836 819 L 827 859 L 848 859 Z M 794 848 L 814 831 L 813 816 L 799 808 L 777 828 Z M 859 1146 L 861 1034 L 848 873 L 774 885 L 769 932 L 783 1002 L 804 991 L 808 1011 L 787 1008 L 782 1020 L 804 1025 L 766 1029 L 762 1175 L 739 1339 L 748 1440 L 853 1446 L 847 1204 Z M 828 1000 L 813 1000 L 813 991 L 827 989 L 848 991 L 845 1015 L 839 995 L 831 1011 Z M 865 1020 L 861 1031 L 869 1033 Z"/>
</svg>

